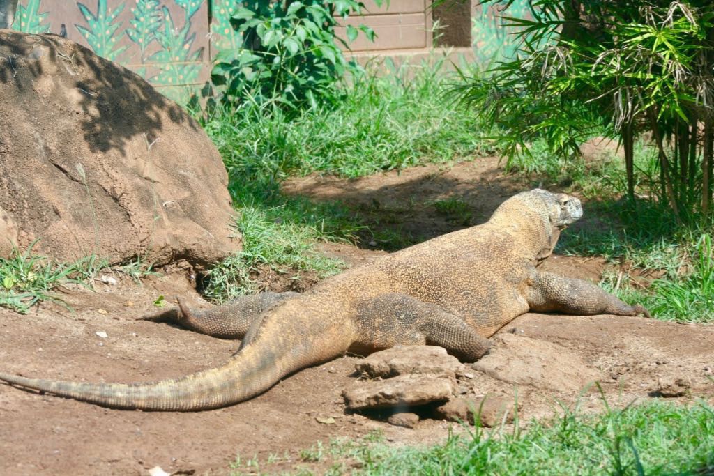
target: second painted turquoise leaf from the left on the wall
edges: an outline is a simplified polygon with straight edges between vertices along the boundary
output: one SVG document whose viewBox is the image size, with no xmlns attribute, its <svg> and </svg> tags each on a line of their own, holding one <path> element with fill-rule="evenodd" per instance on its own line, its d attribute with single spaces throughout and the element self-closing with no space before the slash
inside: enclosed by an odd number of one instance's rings
<svg viewBox="0 0 714 476">
<path fill-rule="evenodd" d="M 116 61 L 119 55 L 129 48 L 129 46 L 116 48 L 116 41 L 119 40 L 119 35 L 116 34 L 116 31 L 124 22 L 115 20 L 124 10 L 124 4 L 119 4 L 114 11 L 110 11 L 106 6 L 106 0 L 97 0 L 96 15 L 79 2 L 77 6 L 89 28 L 75 24 L 76 29 L 84 36 L 96 54 L 111 61 Z"/>
</svg>

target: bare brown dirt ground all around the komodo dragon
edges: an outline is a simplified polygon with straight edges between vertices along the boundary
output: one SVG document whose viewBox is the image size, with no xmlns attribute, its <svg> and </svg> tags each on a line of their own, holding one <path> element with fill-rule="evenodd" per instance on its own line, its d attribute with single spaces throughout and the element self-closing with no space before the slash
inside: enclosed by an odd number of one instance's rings
<svg viewBox="0 0 714 476">
<path fill-rule="evenodd" d="M 372 232 L 401 226 L 421 240 L 466 226 L 463 217 L 439 213 L 434 201 L 465 201 L 473 209 L 469 221 L 476 224 L 505 198 L 531 185 L 503 176 L 495 159 L 478 159 L 357 181 L 301 178 L 285 189 L 342 199 L 371 221 Z M 587 218 L 587 203 L 585 217 L 578 226 L 598 226 L 596 219 Z M 379 246 L 375 242 L 367 248 Z M 321 245 L 321 250 L 351 265 L 368 264 L 384 253 L 346 244 Z M 543 266 L 598 280 L 605 263 L 553 256 Z M 156 312 L 152 303 L 159 295 L 201 302 L 185 272 L 166 270 L 141 285 L 114 277 L 117 285 L 98 282 L 96 292 L 63 290 L 61 297 L 74 312 L 55 304 L 29 315 L 0 308 L 2 370 L 98 382 L 156 380 L 218 365 L 238 347 L 235 341 L 137 320 Z M 615 406 L 651 398 L 714 402 L 712 325 L 527 314 L 499 334 L 496 353 L 515 349 L 532 354 L 502 353 L 505 371 L 500 378 L 477 373 L 466 392 L 510 396 L 518 391 L 522 421 L 553 415 L 558 402 L 580 402 L 584 411 L 602 409 L 600 394 L 593 388 L 583 391 L 587 382 L 578 375 L 598 375 L 608 403 Z M 389 444 L 418 445 L 444 440 L 450 427 L 459 430 L 429 418 L 407 429 L 346 414 L 341 392 L 356 380 L 357 361 L 351 355 L 338 358 L 302 370 L 248 402 L 198 413 L 109 410 L 0 385 L 0 474 L 146 475 L 159 466 L 172 474 L 222 475 L 231 472 L 236 455 L 243 460 L 257 456 L 265 472 L 293 471 L 311 467 L 299 452 L 318 441 L 357 439 L 381 430 Z M 318 417 L 335 422 L 323 424 Z M 278 462 L 268 464 L 270 455 L 277 455 Z"/>
</svg>

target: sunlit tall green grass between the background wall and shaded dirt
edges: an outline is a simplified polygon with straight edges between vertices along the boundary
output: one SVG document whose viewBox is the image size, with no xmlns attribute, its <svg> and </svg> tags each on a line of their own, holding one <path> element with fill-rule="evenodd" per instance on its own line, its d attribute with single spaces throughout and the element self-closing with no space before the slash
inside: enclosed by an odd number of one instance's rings
<svg viewBox="0 0 714 476">
<path fill-rule="evenodd" d="M 356 79 L 338 106 L 297 118 L 270 106 L 218 108 L 203 126 L 234 179 L 313 171 L 346 177 L 451 161 L 481 150 L 476 114 L 444 93 L 443 65 L 394 69 Z"/>
</svg>

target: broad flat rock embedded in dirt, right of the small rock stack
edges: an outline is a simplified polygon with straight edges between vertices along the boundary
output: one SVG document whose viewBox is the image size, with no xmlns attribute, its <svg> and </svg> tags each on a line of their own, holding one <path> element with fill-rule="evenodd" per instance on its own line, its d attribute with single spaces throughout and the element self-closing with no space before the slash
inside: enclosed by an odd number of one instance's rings
<svg viewBox="0 0 714 476">
<path fill-rule="evenodd" d="M 496 345 L 491 352 L 472 367 L 503 382 L 574 393 L 603 378 L 600 371 L 562 345 L 510 333 L 492 340 Z"/>
</svg>

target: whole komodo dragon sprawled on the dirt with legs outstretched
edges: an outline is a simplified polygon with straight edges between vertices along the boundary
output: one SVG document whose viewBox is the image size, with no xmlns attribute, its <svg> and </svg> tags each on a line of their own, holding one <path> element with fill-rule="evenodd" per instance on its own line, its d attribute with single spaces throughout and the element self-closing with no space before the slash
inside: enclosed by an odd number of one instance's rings
<svg viewBox="0 0 714 476">
<path fill-rule="evenodd" d="M 528 310 L 647 315 L 592 283 L 535 269 L 560 230 L 582 215 L 577 198 L 535 189 L 503 202 L 483 225 L 347 270 L 301 295 L 263 293 L 196 312 L 179 301 L 178 323 L 243 337 L 227 363 L 183 378 L 127 385 L 0 373 L 0 380 L 106 407 L 208 410 L 348 351 L 430 344 L 474 361 L 488 351 L 488 337 Z"/>
</svg>

